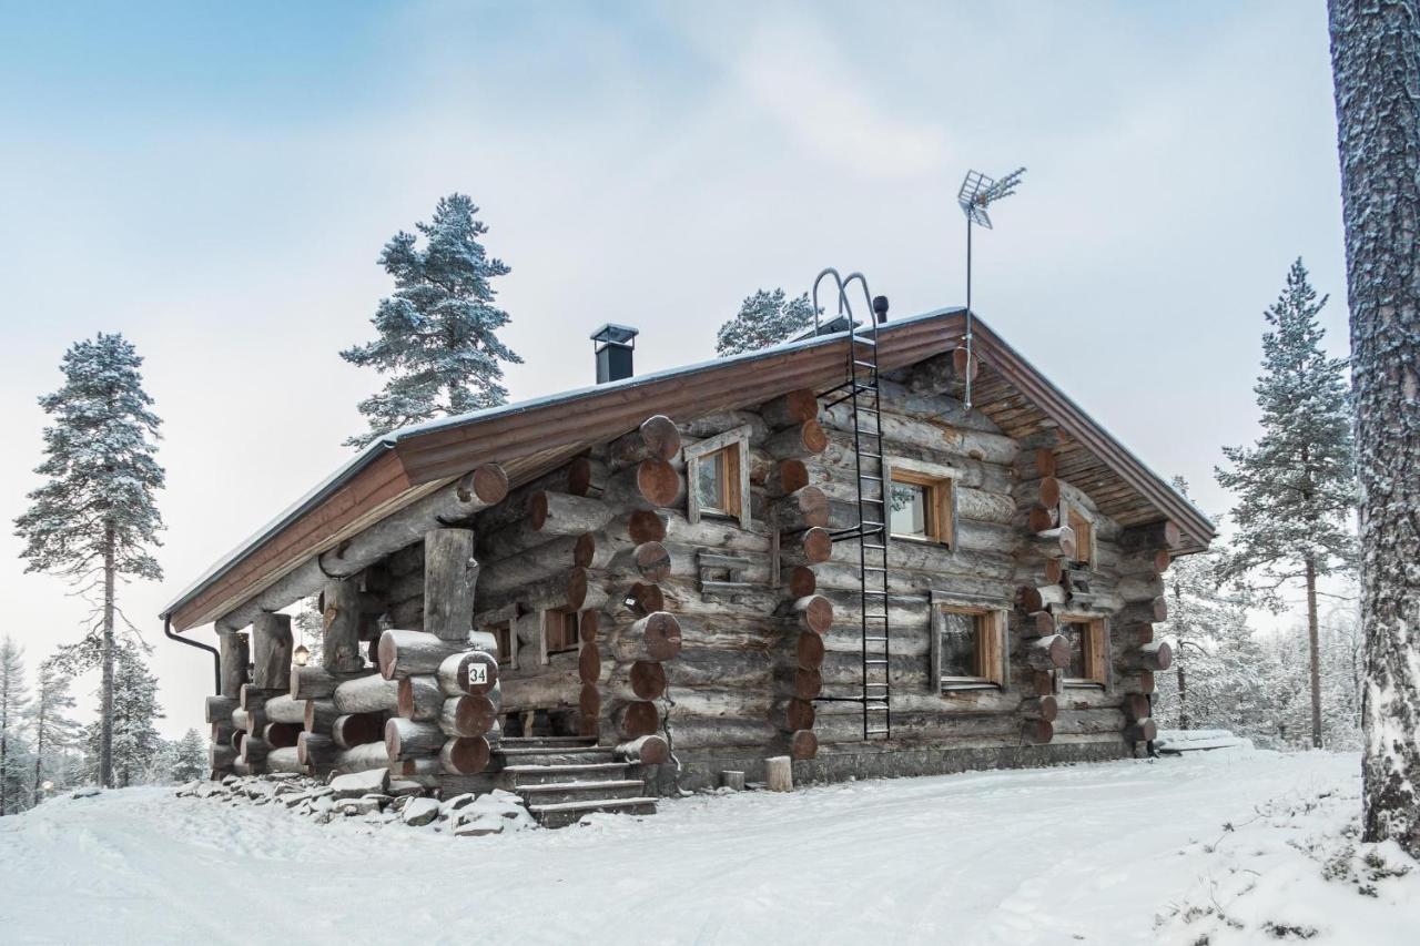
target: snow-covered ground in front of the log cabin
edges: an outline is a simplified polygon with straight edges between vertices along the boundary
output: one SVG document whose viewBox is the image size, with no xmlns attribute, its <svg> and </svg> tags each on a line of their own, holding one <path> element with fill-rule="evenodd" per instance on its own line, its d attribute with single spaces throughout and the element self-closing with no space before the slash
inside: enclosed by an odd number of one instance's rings
<svg viewBox="0 0 1420 946">
<path fill-rule="evenodd" d="M 0 820 L 0 942 L 1220 946 L 1296 923 L 1410 945 L 1420 871 L 1306 851 L 1355 822 L 1358 770 L 1220 750 L 701 795 L 487 838 L 158 788 L 65 797 Z"/>
</svg>

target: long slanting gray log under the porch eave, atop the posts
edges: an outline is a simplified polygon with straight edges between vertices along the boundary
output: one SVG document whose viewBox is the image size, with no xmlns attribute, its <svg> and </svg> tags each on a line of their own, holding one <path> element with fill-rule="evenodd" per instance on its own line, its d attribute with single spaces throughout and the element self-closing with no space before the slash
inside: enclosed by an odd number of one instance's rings
<svg viewBox="0 0 1420 946">
<path fill-rule="evenodd" d="M 331 575 L 355 575 L 385 555 L 419 541 L 442 523 L 469 518 L 503 500 L 508 477 L 496 463 L 486 463 L 398 513 L 386 516 L 335 548 L 311 557 L 290 575 L 260 592 L 219 621 L 224 629 L 244 628 L 261 611 L 277 611 L 318 592 Z"/>
</svg>

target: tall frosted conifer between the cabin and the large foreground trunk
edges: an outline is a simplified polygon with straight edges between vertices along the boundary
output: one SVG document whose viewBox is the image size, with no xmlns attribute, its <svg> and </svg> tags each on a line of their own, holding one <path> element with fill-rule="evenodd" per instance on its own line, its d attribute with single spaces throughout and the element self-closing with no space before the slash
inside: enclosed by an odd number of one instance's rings
<svg viewBox="0 0 1420 946">
<path fill-rule="evenodd" d="M 1225 580 L 1247 582 L 1260 601 L 1281 611 L 1279 591 L 1301 581 L 1306 589 L 1311 655 L 1312 743 L 1322 744 L 1321 636 L 1316 580 L 1355 561 L 1349 530 L 1356 507 L 1346 359 L 1322 352 L 1316 322 L 1326 298 L 1292 263 L 1287 287 L 1267 310 L 1262 375 L 1254 388 L 1262 436 L 1252 447 L 1223 447 L 1233 464 L 1218 483 L 1233 490 L 1237 535 L 1221 567 Z"/>
</svg>

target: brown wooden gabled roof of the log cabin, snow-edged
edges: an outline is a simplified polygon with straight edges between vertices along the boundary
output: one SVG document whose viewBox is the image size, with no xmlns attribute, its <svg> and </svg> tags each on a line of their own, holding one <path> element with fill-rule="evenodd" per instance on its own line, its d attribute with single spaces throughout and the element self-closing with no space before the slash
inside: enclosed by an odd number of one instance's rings
<svg viewBox="0 0 1420 946">
<path fill-rule="evenodd" d="M 882 325 L 879 365 L 900 368 L 956 348 L 964 321 L 963 310 L 944 310 Z M 1213 524 L 1190 501 L 980 318 L 974 338 L 981 359 L 974 406 L 1011 436 L 1058 430 L 1059 476 L 1085 489 L 1105 514 L 1125 526 L 1170 518 L 1184 534 L 1180 553 L 1207 547 Z M 517 486 L 652 413 L 689 420 L 799 388 L 826 391 L 843 381 L 846 366 L 848 338 L 839 332 L 395 432 L 217 562 L 162 616 L 179 631 L 209 624 L 311 555 L 480 463 L 503 464 Z"/>
</svg>

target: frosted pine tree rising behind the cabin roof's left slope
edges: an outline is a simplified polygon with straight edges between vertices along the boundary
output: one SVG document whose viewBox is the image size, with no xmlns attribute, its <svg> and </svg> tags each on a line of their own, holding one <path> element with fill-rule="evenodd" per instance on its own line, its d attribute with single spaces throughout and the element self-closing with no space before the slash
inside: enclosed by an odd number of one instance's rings
<svg viewBox="0 0 1420 946">
<path fill-rule="evenodd" d="M 493 278 L 508 267 L 479 241 L 488 227 L 462 193 L 439 200 L 425 237 L 400 230 L 385 244 L 379 264 L 395 278 L 371 320 L 378 338 L 341 352 L 359 366 L 389 375 L 383 391 L 359 403 L 369 430 L 345 440 L 365 447 L 383 435 L 442 415 L 506 403 L 500 362 L 523 359 L 498 341 L 508 314 L 493 305 Z"/>
</svg>

